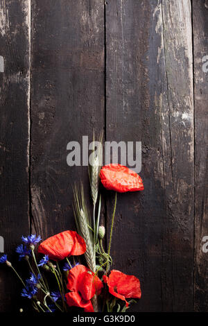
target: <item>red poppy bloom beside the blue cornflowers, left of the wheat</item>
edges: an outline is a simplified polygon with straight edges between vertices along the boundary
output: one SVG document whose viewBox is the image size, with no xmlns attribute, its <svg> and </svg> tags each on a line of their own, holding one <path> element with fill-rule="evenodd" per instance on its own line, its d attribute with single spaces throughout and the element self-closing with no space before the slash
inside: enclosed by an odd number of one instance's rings
<svg viewBox="0 0 208 326">
<path fill-rule="evenodd" d="M 55 261 L 71 255 L 83 255 L 86 251 L 85 240 L 76 231 L 64 231 L 43 241 L 38 252 L 49 255 Z"/>
</svg>

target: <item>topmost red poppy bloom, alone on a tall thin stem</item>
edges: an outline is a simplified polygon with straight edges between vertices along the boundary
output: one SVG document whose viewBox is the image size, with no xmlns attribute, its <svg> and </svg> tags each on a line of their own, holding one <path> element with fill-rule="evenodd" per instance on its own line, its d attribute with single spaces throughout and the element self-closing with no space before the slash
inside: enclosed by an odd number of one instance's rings
<svg viewBox="0 0 208 326">
<path fill-rule="evenodd" d="M 144 190 L 139 175 L 121 164 L 103 166 L 100 177 L 103 186 L 108 190 L 118 192 Z"/>
</svg>

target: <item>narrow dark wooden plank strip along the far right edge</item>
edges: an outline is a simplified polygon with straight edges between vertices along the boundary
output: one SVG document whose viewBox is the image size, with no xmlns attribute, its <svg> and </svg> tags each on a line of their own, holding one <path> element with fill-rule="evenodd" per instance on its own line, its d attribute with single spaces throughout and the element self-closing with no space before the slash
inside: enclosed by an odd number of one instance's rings
<svg viewBox="0 0 208 326">
<path fill-rule="evenodd" d="M 208 6 L 193 1 L 194 100 L 195 100 L 195 284 L 194 309 L 208 311 L 208 253 L 202 251 L 208 236 Z"/>
</svg>

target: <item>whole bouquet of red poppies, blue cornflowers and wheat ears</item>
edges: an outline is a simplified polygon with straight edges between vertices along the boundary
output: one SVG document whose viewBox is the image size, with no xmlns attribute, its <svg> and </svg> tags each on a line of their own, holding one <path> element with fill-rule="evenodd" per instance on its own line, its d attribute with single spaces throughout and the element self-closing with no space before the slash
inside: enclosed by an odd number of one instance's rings
<svg viewBox="0 0 208 326">
<path fill-rule="evenodd" d="M 23 286 L 21 296 L 31 300 L 37 312 L 67 312 L 71 311 L 71 307 L 79 307 L 85 312 L 123 312 L 135 302 L 132 299 L 141 298 L 137 277 L 111 270 L 110 248 L 117 193 L 140 191 L 144 186 L 137 173 L 121 164 L 108 164 L 101 169 L 101 141 L 97 148 L 93 141 L 89 162 L 92 218 L 89 218 L 83 185 L 75 185 L 73 209 L 77 232 L 67 230 L 43 242 L 35 234 L 21 237 L 22 243 L 16 252 L 19 260 L 26 261 L 28 265 L 30 274 L 26 280 L 17 273 L 7 255 L 0 258 L 1 264 L 6 264 L 15 272 Z M 100 225 L 102 200 L 99 180 L 115 194 L 107 252 L 103 248 L 105 227 Z M 40 254 L 43 257 L 37 258 Z"/>
</svg>

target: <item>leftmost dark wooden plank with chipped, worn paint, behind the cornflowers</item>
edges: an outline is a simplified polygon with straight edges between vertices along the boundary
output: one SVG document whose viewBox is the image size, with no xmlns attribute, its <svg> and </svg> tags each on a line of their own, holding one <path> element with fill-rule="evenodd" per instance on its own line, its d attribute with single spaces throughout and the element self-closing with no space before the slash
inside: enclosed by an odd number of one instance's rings
<svg viewBox="0 0 208 326">
<path fill-rule="evenodd" d="M 30 102 L 30 1 L 0 1 L 0 235 L 15 260 L 15 246 L 29 233 L 28 146 Z M 1 66 L 2 67 L 2 66 Z M 1 71 L 2 71 L 1 70 Z M 19 284 L 0 269 L 0 311 L 17 311 Z"/>
</svg>

